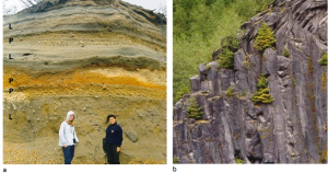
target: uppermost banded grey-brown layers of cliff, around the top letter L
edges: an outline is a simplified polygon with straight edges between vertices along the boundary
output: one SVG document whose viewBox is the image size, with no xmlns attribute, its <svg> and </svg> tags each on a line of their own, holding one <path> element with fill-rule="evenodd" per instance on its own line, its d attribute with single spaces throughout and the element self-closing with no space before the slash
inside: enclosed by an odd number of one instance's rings
<svg viewBox="0 0 328 173">
<path fill-rule="evenodd" d="M 27 9 L 15 15 L 5 15 L 3 37 L 63 31 L 108 32 L 139 37 L 166 47 L 165 18 L 162 20 L 165 20 L 164 23 L 150 21 L 150 19 L 155 21 L 162 19 L 159 14 L 130 4 L 99 5 L 94 3 L 85 7 L 83 1 L 77 1 L 75 5 L 66 4 L 68 2 L 50 11 L 31 12 Z M 9 24 L 13 30 L 8 27 Z"/>
</svg>

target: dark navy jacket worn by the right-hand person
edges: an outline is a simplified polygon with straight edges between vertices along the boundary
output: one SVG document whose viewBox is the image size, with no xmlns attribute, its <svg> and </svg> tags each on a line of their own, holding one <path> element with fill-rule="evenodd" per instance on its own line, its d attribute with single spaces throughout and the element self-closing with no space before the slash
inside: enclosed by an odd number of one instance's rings
<svg viewBox="0 0 328 173">
<path fill-rule="evenodd" d="M 116 123 L 114 125 L 109 125 L 106 129 L 106 139 L 109 145 L 117 145 L 120 147 L 122 141 L 122 130 L 119 125 Z"/>
</svg>

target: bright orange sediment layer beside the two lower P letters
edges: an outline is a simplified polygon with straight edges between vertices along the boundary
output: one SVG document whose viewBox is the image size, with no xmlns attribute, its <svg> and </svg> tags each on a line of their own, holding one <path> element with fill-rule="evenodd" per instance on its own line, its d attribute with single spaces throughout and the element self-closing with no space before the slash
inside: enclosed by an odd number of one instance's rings
<svg viewBox="0 0 328 173">
<path fill-rule="evenodd" d="M 33 72 L 28 69 L 3 67 L 3 90 L 14 89 L 4 100 L 17 92 L 23 97 L 36 95 L 122 95 L 166 99 L 165 71 L 130 72 L 124 69 L 106 73 L 110 69 L 79 68 L 71 71 Z M 140 74 L 141 73 L 141 74 Z M 156 73 L 164 80 L 153 79 Z M 149 74 L 143 78 L 143 74 Z M 9 83 L 10 78 L 13 79 Z M 153 80 L 152 80 L 153 79 Z M 98 95 L 98 96 L 101 96 Z"/>
</svg>

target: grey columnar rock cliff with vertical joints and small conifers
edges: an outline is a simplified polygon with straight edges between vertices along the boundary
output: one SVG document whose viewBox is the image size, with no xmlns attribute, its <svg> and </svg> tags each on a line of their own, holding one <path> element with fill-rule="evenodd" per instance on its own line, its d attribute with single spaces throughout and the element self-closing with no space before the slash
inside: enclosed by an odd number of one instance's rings
<svg viewBox="0 0 328 173">
<path fill-rule="evenodd" d="M 260 53 L 254 42 L 263 22 L 277 43 Z M 318 60 L 327 51 L 327 1 L 277 0 L 242 27 L 234 69 L 200 65 L 192 92 L 176 103 L 174 157 L 179 163 L 326 163 L 327 66 Z M 251 101 L 261 73 L 274 99 L 269 104 Z M 188 118 L 190 96 L 202 108 L 200 120 Z"/>
</svg>

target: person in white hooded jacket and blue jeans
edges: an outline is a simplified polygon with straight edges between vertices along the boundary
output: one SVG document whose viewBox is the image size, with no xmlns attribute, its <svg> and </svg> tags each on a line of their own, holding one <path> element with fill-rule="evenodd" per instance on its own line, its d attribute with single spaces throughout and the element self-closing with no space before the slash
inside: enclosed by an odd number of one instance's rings
<svg viewBox="0 0 328 173">
<path fill-rule="evenodd" d="M 59 129 L 59 146 L 62 147 L 65 164 L 71 164 L 74 157 L 74 145 L 79 142 L 74 129 L 74 113 L 69 111 L 66 120 L 61 123 Z"/>
</svg>

